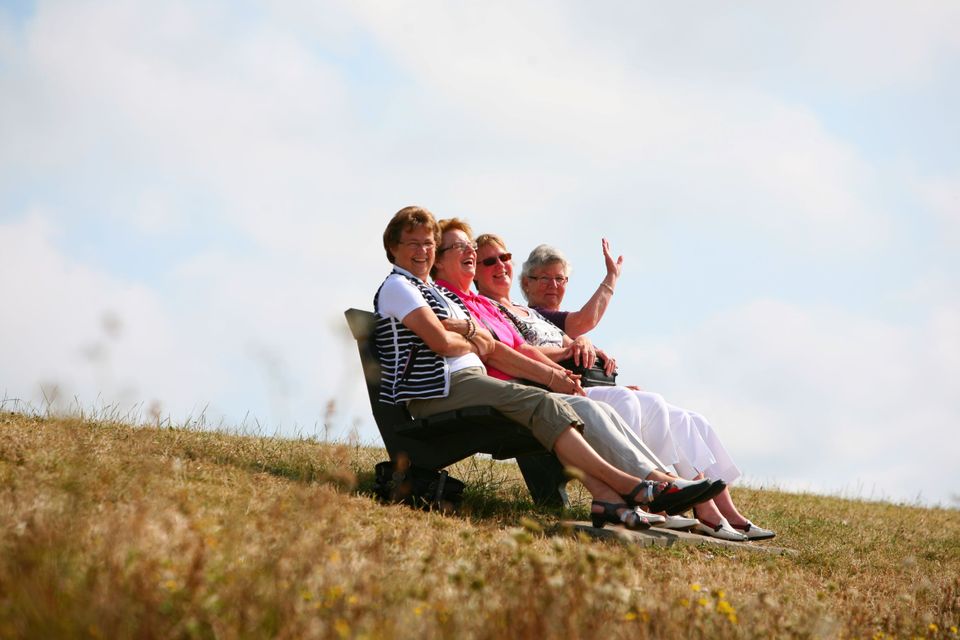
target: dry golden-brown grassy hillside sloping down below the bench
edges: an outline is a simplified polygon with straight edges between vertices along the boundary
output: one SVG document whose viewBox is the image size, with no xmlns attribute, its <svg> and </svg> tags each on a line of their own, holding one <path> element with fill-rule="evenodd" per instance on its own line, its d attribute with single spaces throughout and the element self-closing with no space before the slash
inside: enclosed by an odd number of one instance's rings
<svg viewBox="0 0 960 640">
<path fill-rule="evenodd" d="M 383 458 L 0 413 L 0 637 L 957 637 L 956 510 L 735 489 L 795 554 L 640 548 L 508 463 L 454 469 L 459 515 L 380 505 Z"/>
</svg>

